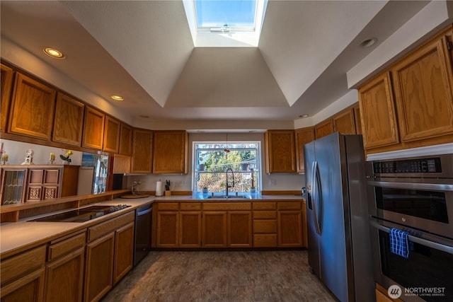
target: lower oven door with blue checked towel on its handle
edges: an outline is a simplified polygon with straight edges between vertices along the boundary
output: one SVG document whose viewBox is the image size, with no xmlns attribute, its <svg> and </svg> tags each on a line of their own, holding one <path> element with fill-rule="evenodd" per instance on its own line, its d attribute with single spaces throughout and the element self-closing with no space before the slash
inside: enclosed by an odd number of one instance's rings
<svg viewBox="0 0 453 302">
<path fill-rule="evenodd" d="M 406 259 L 390 251 L 389 229 L 408 231 L 413 250 Z M 374 278 L 391 298 L 453 301 L 453 240 L 370 218 Z"/>
</svg>

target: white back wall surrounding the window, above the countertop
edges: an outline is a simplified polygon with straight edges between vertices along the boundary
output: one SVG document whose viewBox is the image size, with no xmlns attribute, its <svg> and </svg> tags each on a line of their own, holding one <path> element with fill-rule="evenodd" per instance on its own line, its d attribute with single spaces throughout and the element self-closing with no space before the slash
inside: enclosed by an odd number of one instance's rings
<svg viewBox="0 0 453 302">
<path fill-rule="evenodd" d="M 127 185 L 130 187 L 134 180 L 140 180 L 140 190 L 156 190 L 156 182 L 159 180 L 170 180 L 172 191 L 192 191 L 193 183 L 193 142 L 194 141 L 226 141 L 225 133 L 190 133 L 189 134 L 189 167 L 188 174 L 149 174 L 149 175 L 128 175 Z M 261 168 L 264 165 L 264 133 L 229 133 L 228 141 L 260 141 L 261 144 Z M 270 174 L 264 172 L 261 176 L 260 187 L 262 190 L 301 190 L 305 186 L 305 177 L 302 174 Z"/>
</svg>

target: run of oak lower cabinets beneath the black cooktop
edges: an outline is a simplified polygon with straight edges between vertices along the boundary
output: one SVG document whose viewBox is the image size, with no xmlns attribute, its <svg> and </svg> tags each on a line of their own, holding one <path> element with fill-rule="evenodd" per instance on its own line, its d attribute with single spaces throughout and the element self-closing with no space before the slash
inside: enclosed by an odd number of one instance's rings
<svg viewBox="0 0 453 302">
<path fill-rule="evenodd" d="M 134 211 L 0 262 L 0 301 L 99 301 L 132 269 Z"/>
</svg>

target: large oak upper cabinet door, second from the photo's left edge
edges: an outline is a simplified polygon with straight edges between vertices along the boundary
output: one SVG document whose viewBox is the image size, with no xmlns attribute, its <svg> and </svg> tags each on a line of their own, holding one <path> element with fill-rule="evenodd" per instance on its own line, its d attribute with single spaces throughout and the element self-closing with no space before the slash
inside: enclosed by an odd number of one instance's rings
<svg viewBox="0 0 453 302">
<path fill-rule="evenodd" d="M 12 133 L 50 140 L 54 121 L 55 90 L 16 74 L 9 130 Z"/>
</svg>

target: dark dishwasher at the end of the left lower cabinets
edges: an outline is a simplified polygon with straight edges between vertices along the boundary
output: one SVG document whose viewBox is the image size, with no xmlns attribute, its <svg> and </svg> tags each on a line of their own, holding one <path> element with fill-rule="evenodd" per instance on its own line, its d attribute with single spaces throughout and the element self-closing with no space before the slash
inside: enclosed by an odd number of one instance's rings
<svg viewBox="0 0 453 302">
<path fill-rule="evenodd" d="M 134 266 L 151 250 L 152 204 L 135 210 Z"/>
</svg>

